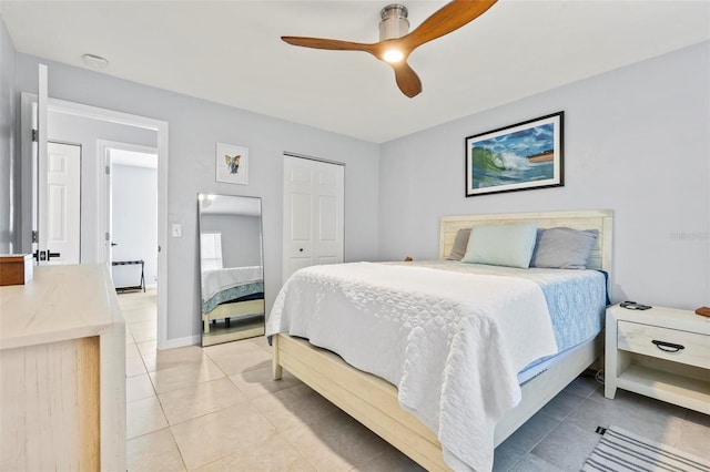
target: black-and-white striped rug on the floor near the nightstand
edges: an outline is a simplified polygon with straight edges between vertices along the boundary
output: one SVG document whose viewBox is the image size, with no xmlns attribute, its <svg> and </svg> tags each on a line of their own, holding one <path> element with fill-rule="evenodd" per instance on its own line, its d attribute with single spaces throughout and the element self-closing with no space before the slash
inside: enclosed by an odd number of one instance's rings
<svg viewBox="0 0 710 472">
<path fill-rule="evenodd" d="M 619 427 L 609 427 L 582 465 L 584 472 L 710 472 L 710 461 L 660 444 Z"/>
</svg>

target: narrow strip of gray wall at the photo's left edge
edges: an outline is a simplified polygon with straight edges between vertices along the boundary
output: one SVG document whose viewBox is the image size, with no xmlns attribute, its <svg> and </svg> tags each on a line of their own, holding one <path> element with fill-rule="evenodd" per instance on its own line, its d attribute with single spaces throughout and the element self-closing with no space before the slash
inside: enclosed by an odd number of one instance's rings
<svg viewBox="0 0 710 472">
<path fill-rule="evenodd" d="M 17 253 L 17 192 L 19 177 L 14 155 L 18 98 L 14 85 L 17 53 L 0 16 L 0 254 Z"/>
</svg>

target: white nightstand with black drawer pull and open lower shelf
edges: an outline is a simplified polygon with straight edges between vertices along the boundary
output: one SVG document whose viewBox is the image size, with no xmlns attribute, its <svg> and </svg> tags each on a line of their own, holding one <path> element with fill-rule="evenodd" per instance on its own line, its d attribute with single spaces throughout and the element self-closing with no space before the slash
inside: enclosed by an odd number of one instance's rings
<svg viewBox="0 0 710 472">
<path fill-rule="evenodd" d="M 619 388 L 710 414 L 710 318 L 615 305 L 606 330 L 606 398 Z"/>
</svg>

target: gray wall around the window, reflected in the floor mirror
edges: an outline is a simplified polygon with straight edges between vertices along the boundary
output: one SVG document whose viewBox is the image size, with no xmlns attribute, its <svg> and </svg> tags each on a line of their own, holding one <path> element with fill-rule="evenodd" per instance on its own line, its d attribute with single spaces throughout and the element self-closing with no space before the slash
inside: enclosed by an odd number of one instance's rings
<svg viewBox="0 0 710 472">
<path fill-rule="evenodd" d="M 222 233 L 223 267 L 251 267 L 262 265 L 262 222 L 258 216 L 202 215 L 202 233 Z"/>
</svg>

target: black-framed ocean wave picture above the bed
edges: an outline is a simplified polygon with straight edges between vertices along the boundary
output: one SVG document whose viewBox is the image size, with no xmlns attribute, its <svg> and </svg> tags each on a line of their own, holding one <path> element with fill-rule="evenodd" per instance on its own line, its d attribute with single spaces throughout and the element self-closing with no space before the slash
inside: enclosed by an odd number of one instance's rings
<svg viewBox="0 0 710 472">
<path fill-rule="evenodd" d="M 565 185 L 565 112 L 466 137 L 466 196 Z"/>
</svg>

